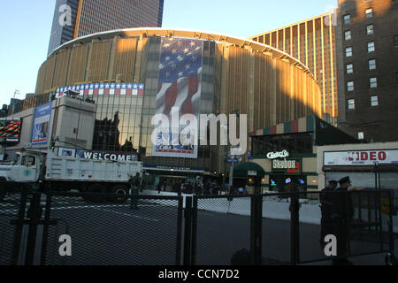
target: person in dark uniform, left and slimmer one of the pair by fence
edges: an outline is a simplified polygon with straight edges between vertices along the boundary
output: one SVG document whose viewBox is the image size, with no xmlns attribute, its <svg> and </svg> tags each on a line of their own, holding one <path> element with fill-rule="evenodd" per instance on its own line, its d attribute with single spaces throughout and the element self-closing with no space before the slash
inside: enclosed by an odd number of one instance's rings
<svg viewBox="0 0 398 283">
<path fill-rule="evenodd" d="M 337 180 L 329 180 L 329 184 L 319 194 L 319 205 L 321 209 L 321 230 L 320 245 L 325 248 L 325 236 L 333 233 L 332 210 L 333 210 L 333 191 L 337 187 Z"/>
</svg>

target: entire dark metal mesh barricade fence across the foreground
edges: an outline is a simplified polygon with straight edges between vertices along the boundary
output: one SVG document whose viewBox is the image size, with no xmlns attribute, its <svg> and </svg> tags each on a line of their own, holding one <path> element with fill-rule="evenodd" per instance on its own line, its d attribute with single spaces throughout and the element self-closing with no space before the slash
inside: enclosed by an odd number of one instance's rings
<svg viewBox="0 0 398 283">
<path fill-rule="evenodd" d="M 322 194 L 128 195 L 126 203 L 118 203 L 111 195 L 23 191 L 0 202 L 0 265 L 331 261 L 321 237 Z M 329 194 L 349 196 L 352 204 L 353 214 L 343 222 L 348 257 L 394 258 L 391 191 Z M 96 203 L 100 199 L 109 201 Z M 139 210 L 133 210 L 135 204 Z"/>
</svg>

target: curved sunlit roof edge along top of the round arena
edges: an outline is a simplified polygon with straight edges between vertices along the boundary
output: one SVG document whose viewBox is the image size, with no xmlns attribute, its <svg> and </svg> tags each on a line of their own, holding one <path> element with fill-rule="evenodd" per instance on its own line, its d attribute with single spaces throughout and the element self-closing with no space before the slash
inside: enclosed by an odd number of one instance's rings
<svg viewBox="0 0 398 283">
<path fill-rule="evenodd" d="M 193 30 L 193 29 L 181 29 L 181 28 L 169 28 L 169 27 L 136 27 L 136 28 L 123 28 L 123 29 L 114 29 L 106 32 L 100 32 L 96 34 L 88 34 L 85 36 L 81 36 L 78 38 L 73 39 L 72 41 L 65 42 L 64 44 L 57 47 L 57 49 L 53 50 L 49 57 L 51 57 L 54 53 L 58 50 L 62 50 L 64 48 L 68 48 L 69 45 L 73 45 L 76 42 L 80 43 L 88 43 L 91 42 L 92 39 L 98 38 L 101 39 L 108 39 L 113 38 L 115 35 L 119 35 L 121 37 L 145 37 L 145 36 L 168 36 L 168 37 L 185 37 L 185 38 L 195 38 L 195 39 L 203 39 L 203 40 L 210 40 L 215 42 L 227 42 L 241 48 L 251 48 L 252 50 L 256 50 L 260 53 L 267 53 L 271 52 L 279 59 L 287 60 L 291 65 L 298 66 L 302 68 L 305 72 L 310 73 L 312 78 L 314 78 L 314 74 L 310 72 L 310 69 L 304 65 L 300 60 L 296 59 L 295 57 L 290 56 L 286 52 L 281 50 L 277 50 L 270 45 L 254 42 L 249 39 L 244 39 L 241 37 L 229 35 L 229 34 L 217 34 L 210 31 L 203 31 L 203 30 Z"/>
</svg>

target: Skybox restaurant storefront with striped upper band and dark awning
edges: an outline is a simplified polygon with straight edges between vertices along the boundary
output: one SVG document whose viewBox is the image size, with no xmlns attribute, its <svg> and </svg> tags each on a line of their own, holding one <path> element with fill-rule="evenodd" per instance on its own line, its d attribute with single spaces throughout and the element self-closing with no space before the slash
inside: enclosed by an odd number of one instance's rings
<svg viewBox="0 0 398 283">
<path fill-rule="evenodd" d="M 264 169 L 264 191 L 286 192 L 322 189 L 318 183 L 318 147 L 338 143 L 357 143 L 316 116 L 257 130 L 252 138 L 253 163 Z"/>
</svg>

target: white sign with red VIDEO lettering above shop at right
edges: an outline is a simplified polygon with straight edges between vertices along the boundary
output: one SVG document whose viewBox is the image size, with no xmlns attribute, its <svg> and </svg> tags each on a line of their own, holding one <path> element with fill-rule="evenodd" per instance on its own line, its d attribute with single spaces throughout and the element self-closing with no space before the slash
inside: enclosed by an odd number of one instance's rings
<svg viewBox="0 0 398 283">
<path fill-rule="evenodd" d="M 332 151 L 324 153 L 324 165 L 398 164 L 398 149 Z"/>
</svg>

